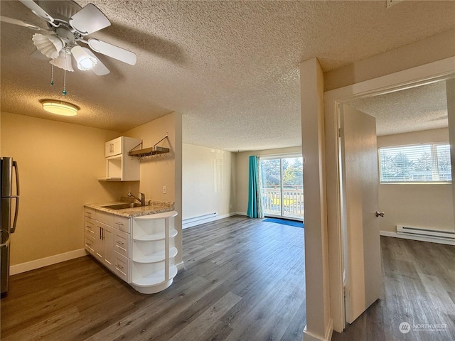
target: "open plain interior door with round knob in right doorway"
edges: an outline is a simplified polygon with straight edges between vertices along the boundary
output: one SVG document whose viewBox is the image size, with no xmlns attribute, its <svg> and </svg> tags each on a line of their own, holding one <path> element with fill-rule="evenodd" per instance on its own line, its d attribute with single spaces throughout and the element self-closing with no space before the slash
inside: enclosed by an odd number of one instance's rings
<svg viewBox="0 0 455 341">
<path fill-rule="evenodd" d="M 340 135 L 345 310 L 353 323 L 382 291 L 375 118 L 343 105 Z"/>
</svg>

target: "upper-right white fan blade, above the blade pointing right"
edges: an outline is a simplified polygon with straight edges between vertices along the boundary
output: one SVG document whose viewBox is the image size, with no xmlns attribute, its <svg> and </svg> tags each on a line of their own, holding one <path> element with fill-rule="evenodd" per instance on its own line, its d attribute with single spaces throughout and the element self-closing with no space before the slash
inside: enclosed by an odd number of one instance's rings
<svg viewBox="0 0 455 341">
<path fill-rule="evenodd" d="M 70 18 L 70 25 L 84 36 L 110 24 L 109 19 L 94 4 L 88 4 Z"/>
</svg>

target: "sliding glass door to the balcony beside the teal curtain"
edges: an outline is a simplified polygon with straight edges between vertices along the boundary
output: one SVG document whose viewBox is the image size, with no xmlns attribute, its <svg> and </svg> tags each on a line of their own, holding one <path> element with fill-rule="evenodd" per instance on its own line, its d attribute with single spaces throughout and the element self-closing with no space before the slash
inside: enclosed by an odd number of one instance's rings
<svg viewBox="0 0 455 341">
<path fill-rule="evenodd" d="M 301 156 L 260 159 L 264 215 L 303 220 L 302 161 Z"/>
</svg>

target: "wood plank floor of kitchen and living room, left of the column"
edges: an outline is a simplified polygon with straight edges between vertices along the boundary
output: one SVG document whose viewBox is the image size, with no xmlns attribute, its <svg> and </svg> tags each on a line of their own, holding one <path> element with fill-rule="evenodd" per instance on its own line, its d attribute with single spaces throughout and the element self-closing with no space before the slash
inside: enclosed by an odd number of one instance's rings
<svg viewBox="0 0 455 341">
<path fill-rule="evenodd" d="M 183 230 L 183 259 L 150 296 L 90 256 L 11 276 L 1 340 L 302 340 L 304 229 L 230 217 Z"/>
</svg>

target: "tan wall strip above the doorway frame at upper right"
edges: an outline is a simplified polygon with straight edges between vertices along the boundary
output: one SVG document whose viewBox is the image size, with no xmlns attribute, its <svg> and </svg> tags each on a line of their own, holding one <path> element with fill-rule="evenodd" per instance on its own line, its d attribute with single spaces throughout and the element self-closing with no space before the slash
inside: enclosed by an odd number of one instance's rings
<svg viewBox="0 0 455 341">
<path fill-rule="evenodd" d="M 455 55 L 455 30 L 375 55 L 324 74 L 324 91 L 371 80 Z"/>
</svg>

